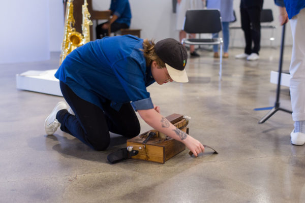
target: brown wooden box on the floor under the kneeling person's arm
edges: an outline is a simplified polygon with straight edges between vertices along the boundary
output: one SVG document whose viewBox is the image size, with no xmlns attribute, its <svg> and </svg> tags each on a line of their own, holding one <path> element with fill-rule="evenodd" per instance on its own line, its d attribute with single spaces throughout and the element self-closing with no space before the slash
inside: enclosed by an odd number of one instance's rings
<svg viewBox="0 0 305 203">
<path fill-rule="evenodd" d="M 182 115 L 172 114 L 166 118 L 177 128 L 188 133 L 188 120 L 183 118 Z M 149 132 L 155 132 L 156 136 L 150 138 L 146 144 L 143 144 L 143 141 L 147 138 Z M 183 143 L 154 129 L 144 132 L 133 139 L 127 140 L 127 147 L 132 147 L 133 150 L 139 151 L 137 155 L 132 156 L 131 158 L 158 163 L 164 163 L 186 148 Z"/>
</svg>

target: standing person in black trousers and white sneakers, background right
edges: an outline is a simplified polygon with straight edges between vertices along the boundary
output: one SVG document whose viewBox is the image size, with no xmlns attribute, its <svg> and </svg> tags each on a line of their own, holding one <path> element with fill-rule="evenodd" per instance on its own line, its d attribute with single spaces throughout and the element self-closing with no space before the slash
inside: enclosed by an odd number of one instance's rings
<svg viewBox="0 0 305 203">
<path fill-rule="evenodd" d="M 235 58 L 247 58 L 247 60 L 258 60 L 260 50 L 261 26 L 260 15 L 263 8 L 263 0 L 241 0 L 240 19 L 241 29 L 245 34 L 245 52 L 238 54 Z M 252 42 L 254 47 L 252 48 Z"/>
</svg>

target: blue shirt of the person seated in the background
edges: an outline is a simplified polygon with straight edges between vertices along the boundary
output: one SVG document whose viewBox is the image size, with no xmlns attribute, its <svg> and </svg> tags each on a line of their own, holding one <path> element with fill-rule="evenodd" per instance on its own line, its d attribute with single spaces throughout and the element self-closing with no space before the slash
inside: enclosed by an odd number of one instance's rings
<svg viewBox="0 0 305 203">
<path fill-rule="evenodd" d="M 109 10 L 118 17 L 115 22 L 130 26 L 131 10 L 128 0 L 111 0 Z"/>
</svg>

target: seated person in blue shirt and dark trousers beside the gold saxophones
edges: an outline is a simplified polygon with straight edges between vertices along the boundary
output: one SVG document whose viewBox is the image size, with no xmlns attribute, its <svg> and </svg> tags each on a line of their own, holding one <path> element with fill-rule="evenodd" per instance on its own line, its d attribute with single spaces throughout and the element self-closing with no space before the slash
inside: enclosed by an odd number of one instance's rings
<svg viewBox="0 0 305 203">
<path fill-rule="evenodd" d="M 111 0 L 110 9 L 111 19 L 96 27 L 97 39 L 108 36 L 108 28 L 115 32 L 122 28 L 129 28 L 131 20 L 131 10 L 128 0 Z"/>
</svg>

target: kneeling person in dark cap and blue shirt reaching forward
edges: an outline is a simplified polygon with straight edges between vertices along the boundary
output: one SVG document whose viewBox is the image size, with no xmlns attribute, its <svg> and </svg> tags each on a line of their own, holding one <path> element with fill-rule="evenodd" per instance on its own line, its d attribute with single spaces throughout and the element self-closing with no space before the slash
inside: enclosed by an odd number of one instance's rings
<svg viewBox="0 0 305 203">
<path fill-rule="evenodd" d="M 155 107 L 146 87 L 154 82 L 188 82 L 187 51 L 178 41 L 158 43 L 127 35 L 105 37 L 71 52 L 57 70 L 65 102 L 58 103 L 45 121 L 47 134 L 57 128 L 95 150 L 106 150 L 110 132 L 133 138 L 141 118 L 156 130 L 180 141 L 195 156 L 203 145 L 172 125 Z"/>
</svg>

